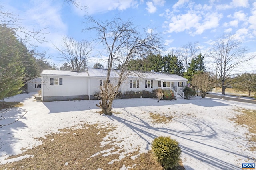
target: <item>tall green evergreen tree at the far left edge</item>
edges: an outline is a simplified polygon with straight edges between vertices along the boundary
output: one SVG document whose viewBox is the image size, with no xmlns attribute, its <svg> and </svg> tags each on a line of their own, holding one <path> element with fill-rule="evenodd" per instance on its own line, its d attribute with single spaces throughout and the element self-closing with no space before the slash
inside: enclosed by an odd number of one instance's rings
<svg viewBox="0 0 256 170">
<path fill-rule="evenodd" d="M 0 100 L 20 93 L 24 85 L 21 47 L 12 29 L 0 26 Z"/>
</svg>

